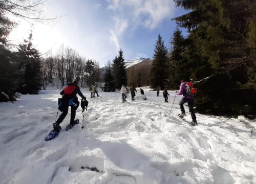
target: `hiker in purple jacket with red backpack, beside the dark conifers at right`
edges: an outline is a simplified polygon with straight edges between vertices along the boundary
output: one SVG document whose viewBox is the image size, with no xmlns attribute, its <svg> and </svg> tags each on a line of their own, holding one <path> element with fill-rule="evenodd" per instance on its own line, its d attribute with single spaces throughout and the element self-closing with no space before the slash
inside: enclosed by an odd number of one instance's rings
<svg viewBox="0 0 256 184">
<path fill-rule="evenodd" d="M 195 96 L 194 95 L 189 95 L 188 91 L 187 91 L 187 87 L 186 84 L 188 82 L 186 82 L 184 79 L 180 80 L 181 84 L 180 84 L 180 92 L 176 92 L 176 95 L 183 95 L 183 98 L 180 101 L 180 110 L 181 110 L 181 114 L 179 114 L 179 117 L 184 117 L 186 112 L 185 109 L 183 107 L 184 103 L 188 104 L 188 109 L 189 112 L 191 113 L 191 118 L 192 118 L 192 125 L 197 125 L 197 117 L 196 114 L 194 112 L 194 103 L 195 103 Z"/>
</svg>

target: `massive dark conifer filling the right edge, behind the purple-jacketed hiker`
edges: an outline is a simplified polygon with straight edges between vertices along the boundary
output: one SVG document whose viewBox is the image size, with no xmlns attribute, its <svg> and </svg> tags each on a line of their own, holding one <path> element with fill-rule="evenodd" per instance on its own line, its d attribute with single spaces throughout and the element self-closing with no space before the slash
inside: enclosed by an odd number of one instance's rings
<svg viewBox="0 0 256 184">
<path fill-rule="evenodd" d="M 255 108 L 249 100 L 255 101 L 252 94 L 256 88 L 255 2 L 183 0 L 175 3 L 190 11 L 175 20 L 180 27 L 188 29 L 184 56 L 189 62 L 190 79 L 200 81 L 198 111 L 255 114 L 249 109 Z M 247 97 L 242 95 L 244 87 L 251 88 Z M 236 96 L 240 97 L 239 101 L 231 98 Z M 250 107 L 245 110 L 244 105 Z"/>
</svg>

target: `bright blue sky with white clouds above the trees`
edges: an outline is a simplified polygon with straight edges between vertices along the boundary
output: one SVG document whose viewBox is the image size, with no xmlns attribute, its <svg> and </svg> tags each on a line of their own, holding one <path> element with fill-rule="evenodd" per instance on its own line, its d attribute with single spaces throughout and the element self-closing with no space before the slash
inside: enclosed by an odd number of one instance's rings
<svg viewBox="0 0 256 184">
<path fill-rule="evenodd" d="M 158 34 L 169 49 L 176 16 L 185 13 L 171 0 L 52 0 L 48 13 L 63 15 L 53 24 L 33 22 L 33 42 L 42 52 L 63 43 L 101 65 L 112 61 L 120 49 L 125 60 L 152 58 Z M 20 20 L 13 41 L 27 38 L 31 22 Z"/>
</svg>

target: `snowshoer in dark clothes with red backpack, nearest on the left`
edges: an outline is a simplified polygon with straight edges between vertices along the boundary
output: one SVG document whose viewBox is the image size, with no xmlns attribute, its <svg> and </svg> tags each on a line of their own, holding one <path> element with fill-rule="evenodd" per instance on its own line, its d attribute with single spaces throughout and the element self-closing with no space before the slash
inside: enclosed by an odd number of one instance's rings
<svg viewBox="0 0 256 184">
<path fill-rule="evenodd" d="M 80 91 L 80 88 L 78 87 L 78 81 L 73 80 L 72 83 L 69 83 L 68 86 L 66 86 L 61 92 L 60 95 L 62 96 L 61 99 L 61 110 L 62 113 L 60 114 L 58 120 L 56 123 L 53 123 L 53 129 L 56 132 L 59 132 L 61 130 L 61 127 L 59 124 L 65 119 L 67 116 L 67 113 L 69 111 L 69 106 L 71 106 L 71 116 L 70 116 L 70 125 L 74 125 L 74 120 L 76 116 L 76 109 L 79 106 L 79 101 L 76 95 L 79 95 L 82 99 L 86 100 L 86 97 L 84 97 Z"/>
</svg>

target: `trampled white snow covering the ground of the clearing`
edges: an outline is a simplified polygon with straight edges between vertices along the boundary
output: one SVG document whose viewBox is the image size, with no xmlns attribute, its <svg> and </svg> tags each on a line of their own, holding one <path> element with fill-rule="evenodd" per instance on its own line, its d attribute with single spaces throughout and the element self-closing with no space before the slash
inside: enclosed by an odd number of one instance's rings
<svg viewBox="0 0 256 184">
<path fill-rule="evenodd" d="M 177 116 L 181 97 L 169 116 L 174 91 L 169 103 L 149 89 L 147 100 L 127 103 L 99 91 L 88 98 L 83 130 L 63 130 L 69 112 L 58 137 L 45 142 L 59 91 L 0 103 L 0 183 L 256 183 L 255 121 L 239 117 L 220 128 L 227 118 L 196 113 L 193 127 Z M 81 107 L 76 118 L 82 123 Z"/>
</svg>

